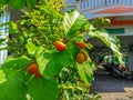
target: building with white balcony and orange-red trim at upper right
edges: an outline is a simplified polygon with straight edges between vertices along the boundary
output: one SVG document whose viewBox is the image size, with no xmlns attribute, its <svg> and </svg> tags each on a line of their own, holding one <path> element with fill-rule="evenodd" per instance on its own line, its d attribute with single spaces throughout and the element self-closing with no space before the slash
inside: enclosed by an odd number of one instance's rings
<svg viewBox="0 0 133 100">
<path fill-rule="evenodd" d="M 66 0 L 66 3 L 68 9 L 76 8 L 89 20 L 109 18 L 111 26 L 104 29 L 121 40 L 121 51 L 127 57 L 127 67 L 133 70 L 133 0 Z M 96 39 L 90 41 L 96 47 L 103 46 Z"/>
</svg>

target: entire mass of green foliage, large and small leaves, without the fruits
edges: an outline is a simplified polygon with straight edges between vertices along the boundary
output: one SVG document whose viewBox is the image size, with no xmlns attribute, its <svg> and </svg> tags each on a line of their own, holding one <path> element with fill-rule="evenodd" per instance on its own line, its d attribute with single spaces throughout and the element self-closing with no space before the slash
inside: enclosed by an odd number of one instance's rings
<svg viewBox="0 0 133 100">
<path fill-rule="evenodd" d="M 106 32 L 103 33 L 106 37 L 102 36 L 103 31 L 93 28 L 80 12 L 61 12 L 62 0 L 42 1 L 2 0 L 16 9 L 27 6 L 29 10 L 21 20 L 7 23 L 12 37 L 9 38 L 7 48 L 12 56 L 0 70 L 0 99 L 99 100 L 99 97 L 89 96 L 95 70 L 89 56 L 93 46 L 86 42 L 86 48 L 81 48 L 76 43 L 85 42 L 84 34 L 88 32 L 90 38 L 99 38 L 120 58 L 116 41 Z M 66 49 L 58 50 L 55 41 L 63 42 Z M 81 51 L 88 52 L 88 59 L 82 64 L 76 62 L 76 56 Z M 41 78 L 28 70 L 33 62 L 38 66 Z M 14 91 L 11 92 L 12 90 Z"/>
</svg>

